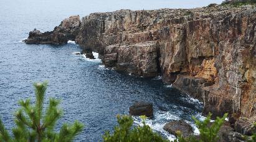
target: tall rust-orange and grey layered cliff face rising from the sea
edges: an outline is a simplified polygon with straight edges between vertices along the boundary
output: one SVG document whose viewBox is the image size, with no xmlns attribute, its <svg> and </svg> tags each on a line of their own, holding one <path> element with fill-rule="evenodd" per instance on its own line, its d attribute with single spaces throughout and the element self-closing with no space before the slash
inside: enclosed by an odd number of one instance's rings
<svg viewBox="0 0 256 142">
<path fill-rule="evenodd" d="M 107 67 L 162 75 L 205 114 L 232 120 L 256 115 L 255 26 L 254 6 L 120 10 L 82 17 L 75 41 Z"/>
</svg>

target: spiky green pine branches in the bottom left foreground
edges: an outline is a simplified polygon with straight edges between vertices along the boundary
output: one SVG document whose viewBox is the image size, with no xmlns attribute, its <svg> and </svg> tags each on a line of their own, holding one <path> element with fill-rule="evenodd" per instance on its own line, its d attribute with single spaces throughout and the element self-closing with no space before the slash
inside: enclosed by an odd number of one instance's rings
<svg viewBox="0 0 256 142">
<path fill-rule="evenodd" d="M 0 120 L 0 141 L 72 141 L 82 130 L 82 123 L 75 121 L 73 125 L 64 124 L 59 133 L 54 131 L 57 120 L 63 115 L 59 108 L 60 101 L 50 98 L 49 107 L 43 110 L 47 82 L 34 83 L 36 103 L 21 100 L 21 108 L 15 115 L 16 128 L 12 129 L 13 138 L 9 135 Z"/>
</svg>

